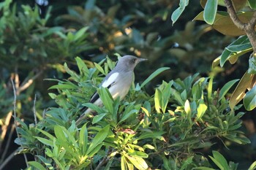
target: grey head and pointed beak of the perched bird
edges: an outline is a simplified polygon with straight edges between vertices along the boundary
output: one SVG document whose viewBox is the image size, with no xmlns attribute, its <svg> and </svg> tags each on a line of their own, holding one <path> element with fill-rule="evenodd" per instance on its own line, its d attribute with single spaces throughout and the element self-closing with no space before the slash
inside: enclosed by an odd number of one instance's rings
<svg viewBox="0 0 256 170">
<path fill-rule="evenodd" d="M 133 55 L 124 55 L 123 57 L 119 58 L 116 67 L 126 71 L 133 71 L 138 63 L 146 60 L 147 59 L 145 58 L 137 58 Z"/>
</svg>

